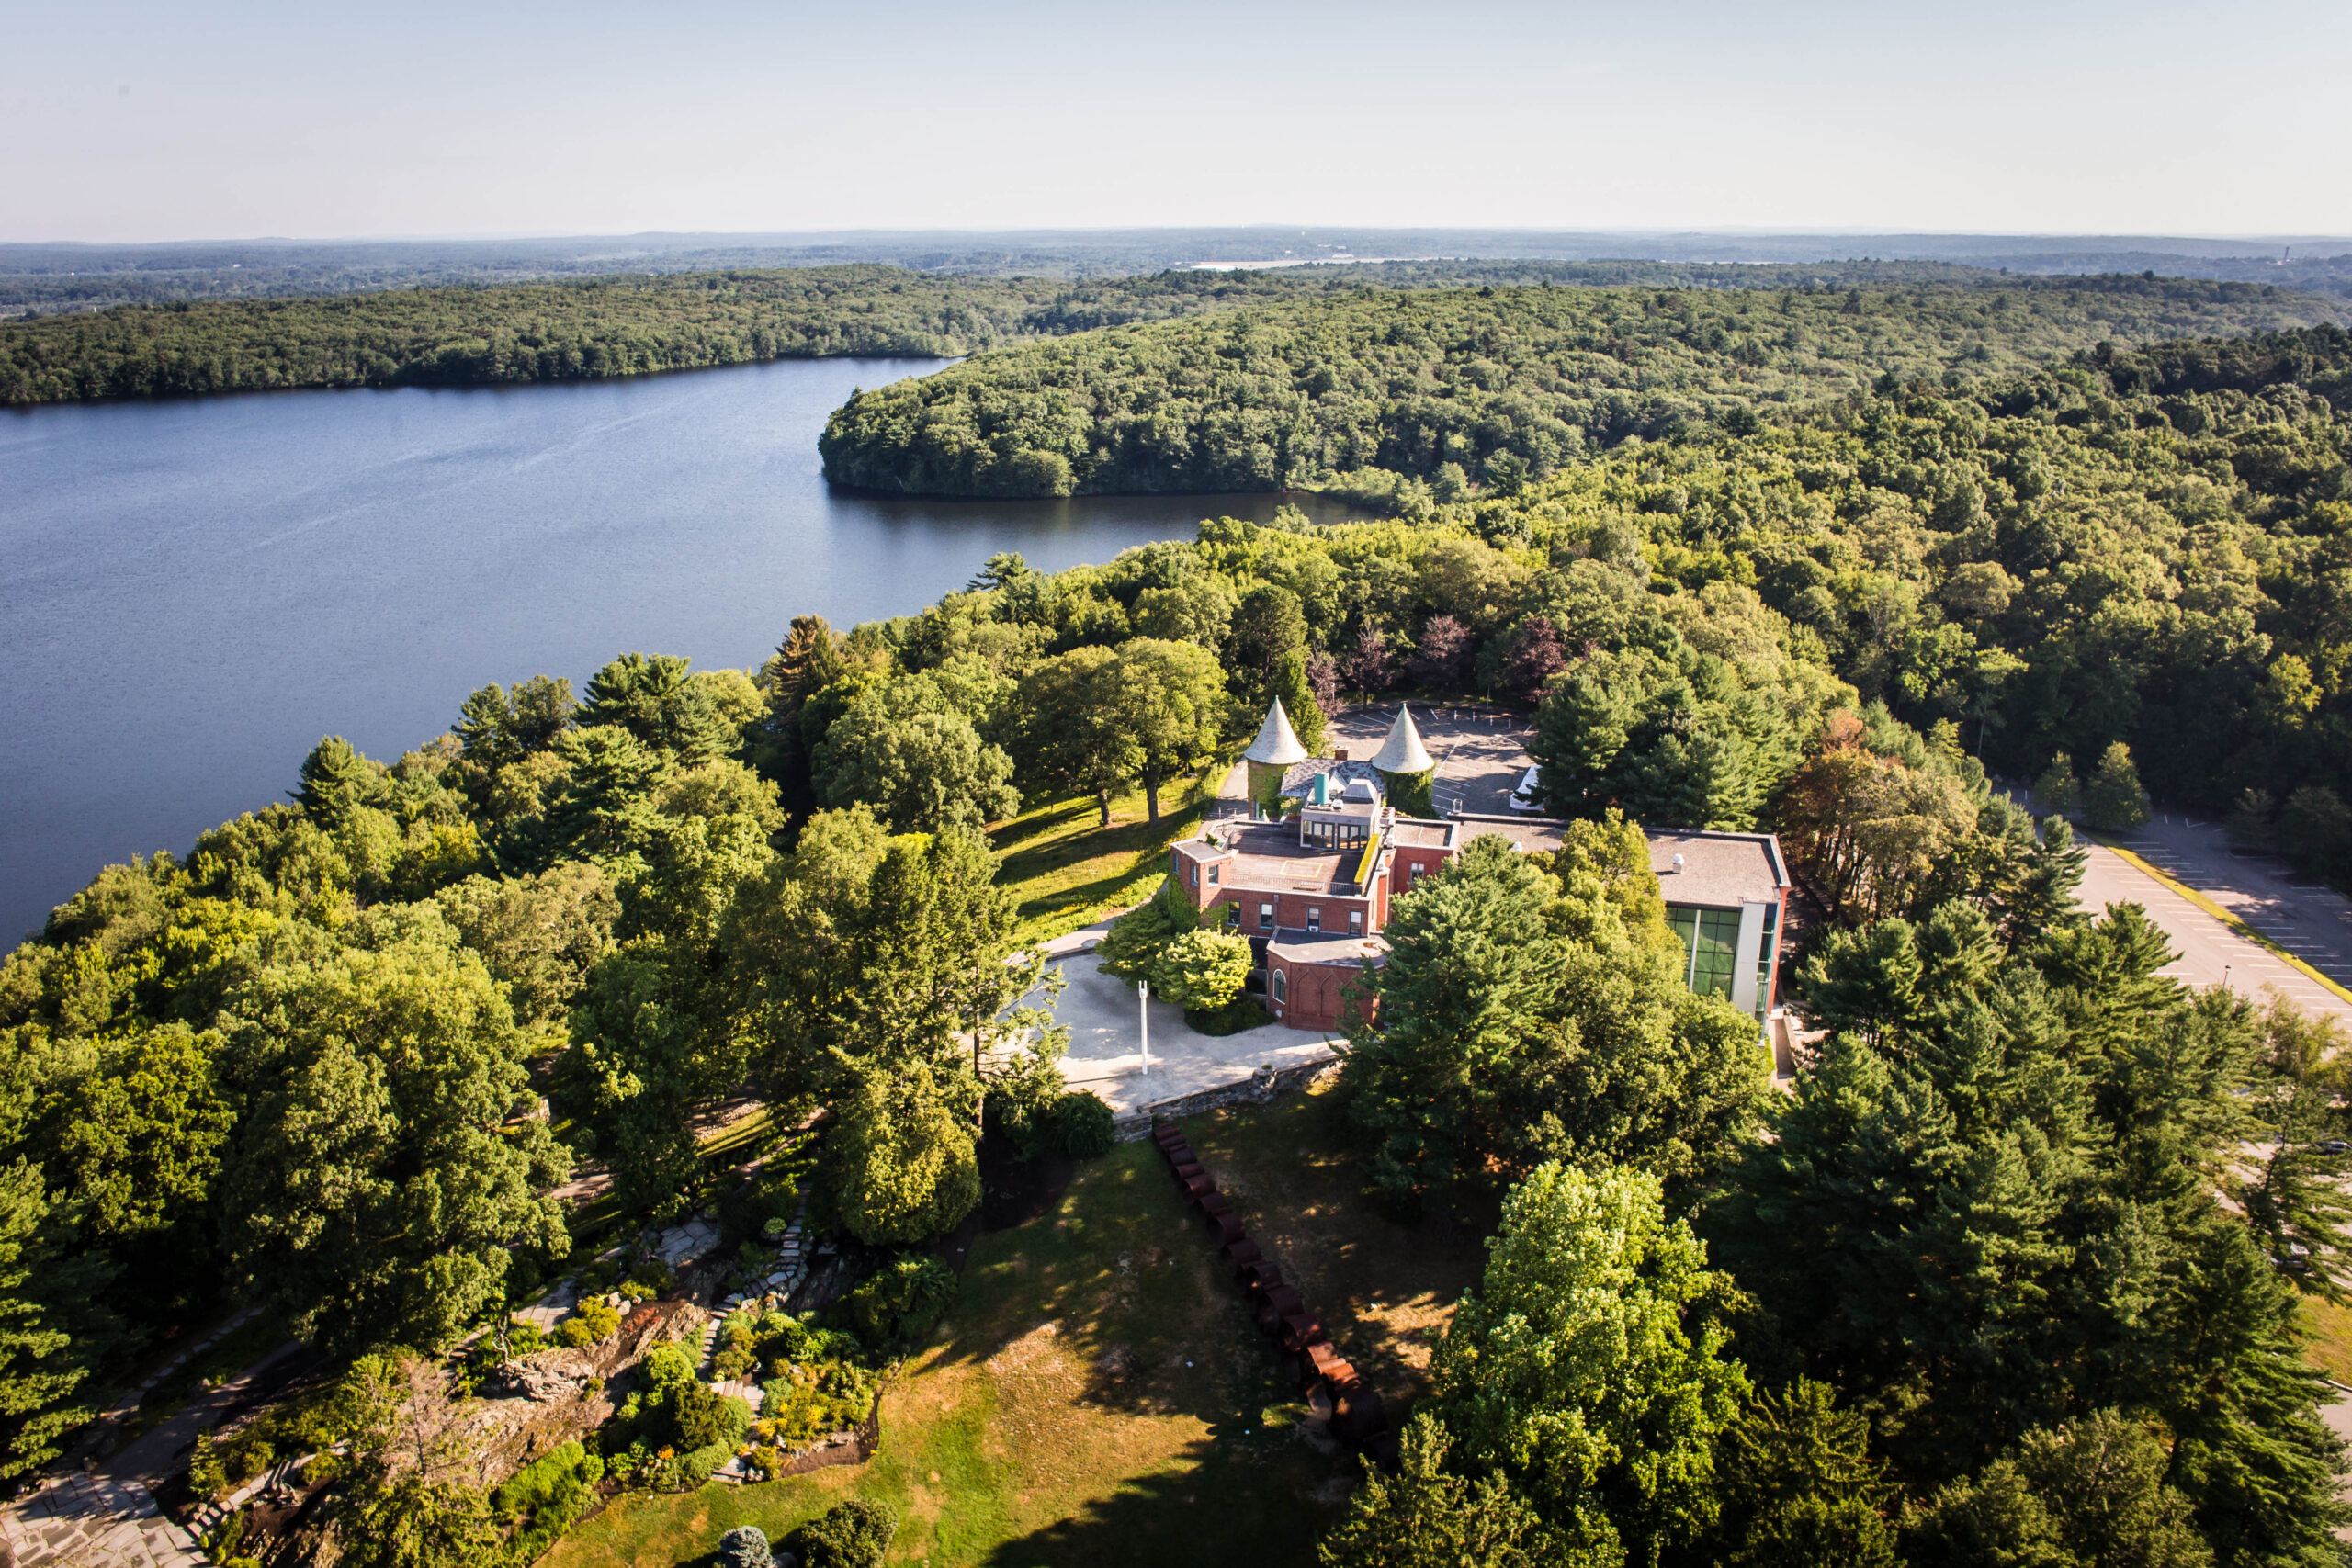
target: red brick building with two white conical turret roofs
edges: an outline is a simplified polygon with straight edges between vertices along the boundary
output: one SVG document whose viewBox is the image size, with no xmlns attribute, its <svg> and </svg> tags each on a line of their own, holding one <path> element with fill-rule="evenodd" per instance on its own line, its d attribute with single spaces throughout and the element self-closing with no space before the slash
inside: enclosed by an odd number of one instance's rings
<svg viewBox="0 0 2352 1568">
<path fill-rule="evenodd" d="M 1411 724 L 1399 708 L 1383 757 L 1418 752 Z M 1381 931 L 1392 896 L 1435 875 L 1472 839 L 1501 835 L 1529 853 L 1559 849 L 1566 830 L 1526 816 L 1397 816 L 1376 766 L 1305 757 L 1279 712 L 1268 715 L 1244 757 L 1254 778 L 1261 769 L 1268 780 L 1272 769 L 1282 771 L 1284 818 L 1207 823 L 1169 849 L 1169 872 L 1195 910 L 1232 905 L 1232 929 L 1249 938 L 1256 959 L 1251 985 L 1263 987 L 1275 1018 L 1298 1030 L 1345 1027 L 1345 987 L 1388 957 Z M 1762 1039 L 1778 999 L 1788 929 L 1780 842 L 1769 832 L 1665 827 L 1649 835 L 1649 856 L 1668 924 L 1682 938 L 1684 983 L 1729 997 L 1757 1020 Z"/>
</svg>

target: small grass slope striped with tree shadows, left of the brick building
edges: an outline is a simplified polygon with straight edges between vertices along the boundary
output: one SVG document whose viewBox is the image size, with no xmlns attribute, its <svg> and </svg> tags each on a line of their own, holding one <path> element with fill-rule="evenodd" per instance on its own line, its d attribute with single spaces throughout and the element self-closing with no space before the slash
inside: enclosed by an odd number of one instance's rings
<svg viewBox="0 0 2352 1568">
<path fill-rule="evenodd" d="M 1200 827 L 1225 771 L 1216 764 L 1164 783 L 1157 823 L 1145 820 L 1143 790 L 1134 790 L 1112 797 L 1108 827 L 1091 795 L 990 827 L 988 842 L 1004 856 L 997 884 L 1021 900 L 1018 940 L 1042 943 L 1150 898 L 1167 875 L 1169 844 Z"/>
</svg>

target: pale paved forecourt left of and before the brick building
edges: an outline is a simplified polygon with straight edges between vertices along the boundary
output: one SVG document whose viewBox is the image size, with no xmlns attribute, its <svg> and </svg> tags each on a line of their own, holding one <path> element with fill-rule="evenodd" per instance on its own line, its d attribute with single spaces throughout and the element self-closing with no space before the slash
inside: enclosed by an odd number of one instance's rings
<svg viewBox="0 0 2352 1568">
<path fill-rule="evenodd" d="M 1138 1048 L 1141 1009 L 1136 987 L 1096 969 L 1084 945 L 1103 938 L 1103 926 L 1089 926 L 1056 938 L 1047 954 L 1056 957 L 1068 978 L 1056 1018 L 1070 1030 L 1070 1053 L 1061 1074 L 1070 1088 L 1091 1088 L 1110 1110 L 1141 1110 L 1176 1095 L 1242 1084 L 1261 1067 L 1291 1067 L 1327 1056 L 1329 1034 L 1291 1030 L 1270 1023 L 1242 1034 L 1197 1034 L 1176 1009 L 1157 997 L 1150 1004 L 1150 1070 Z M 1040 997 L 1030 997 L 1037 1001 Z"/>
</svg>

